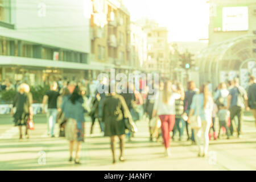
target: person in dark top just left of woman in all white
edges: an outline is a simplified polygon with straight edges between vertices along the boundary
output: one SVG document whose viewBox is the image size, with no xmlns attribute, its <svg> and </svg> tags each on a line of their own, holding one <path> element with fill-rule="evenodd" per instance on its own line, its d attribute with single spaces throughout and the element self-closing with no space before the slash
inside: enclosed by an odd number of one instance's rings
<svg viewBox="0 0 256 182">
<path fill-rule="evenodd" d="M 187 115 L 189 115 L 189 111 L 191 109 L 191 104 L 192 104 L 192 99 L 193 96 L 198 92 L 196 89 L 196 84 L 193 81 L 189 81 L 187 83 L 187 91 L 185 92 L 185 98 L 184 98 L 184 110 Z M 189 136 L 189 123 L 186 122 L 186 130 L 187 130 L 187 136 L 188 140 L 192 140 L 192 142 L 195 142 L 195 137 L 194 137 L 194 130 L 191 130 L 191 137 Z"/>
</svg>

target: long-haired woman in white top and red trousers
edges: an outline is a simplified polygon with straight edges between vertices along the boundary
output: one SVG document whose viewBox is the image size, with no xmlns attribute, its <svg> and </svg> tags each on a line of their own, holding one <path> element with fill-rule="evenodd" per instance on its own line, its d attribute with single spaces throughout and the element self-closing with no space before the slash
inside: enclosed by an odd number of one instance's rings
<svg viewBox="0 0 256 182">
<path fill-rule="evenodd" d="M 175 124 L 175 100 L 180 94 L 172 92 L 172 82 L 164 82 L 164 89 L 156 96 L 152 117 L 159 115 L 166 155 L 170 155 L 170 131 Z"/>
</svg>

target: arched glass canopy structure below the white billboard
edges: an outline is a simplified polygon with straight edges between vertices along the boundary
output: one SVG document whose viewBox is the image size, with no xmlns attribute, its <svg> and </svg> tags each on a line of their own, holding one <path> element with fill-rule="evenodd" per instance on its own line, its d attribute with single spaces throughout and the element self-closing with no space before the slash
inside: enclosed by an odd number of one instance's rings
<svg viewBox="0 0 256 182">
<path fill-rule="evenodd" d="M 213 88 L 221 82 L 221 71 L 240 71 L 248 61 L 256 63 L 256 36 L 247 34 L 211 44 L 196 56 L 200 84 L 210 81 Z M 256 65 L 256 64 L 255 64 Z"/>
</svg>

